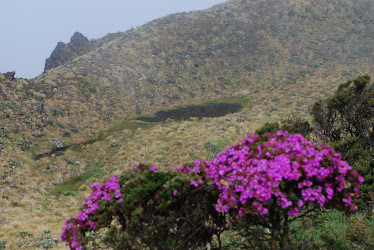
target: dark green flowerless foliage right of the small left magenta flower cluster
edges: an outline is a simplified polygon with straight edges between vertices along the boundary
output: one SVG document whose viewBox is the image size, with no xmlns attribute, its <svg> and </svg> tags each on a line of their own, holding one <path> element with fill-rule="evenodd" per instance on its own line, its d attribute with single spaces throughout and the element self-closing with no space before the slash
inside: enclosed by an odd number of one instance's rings
<svg viewBox="0 0 374 250">
<path fill-rule="evenodd" d="M 97 211 L 98 225 L 108 229 L 101 240 L 106 246 L 196 249 L 211 241 L 213 233 L 224 225 L 225 218 L 214 206 L 218 193 L 206 185 L 191 185 L 193 175 L 151 171 L 145 165 L 135 171 L 120 178 L 124 201 L 103 202 Z M 97 237 L 96 233 L 88 237 L 88 246 L 94 247 Z"/>
</svg>

